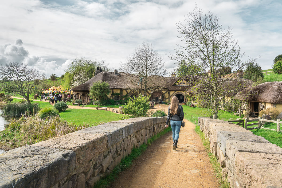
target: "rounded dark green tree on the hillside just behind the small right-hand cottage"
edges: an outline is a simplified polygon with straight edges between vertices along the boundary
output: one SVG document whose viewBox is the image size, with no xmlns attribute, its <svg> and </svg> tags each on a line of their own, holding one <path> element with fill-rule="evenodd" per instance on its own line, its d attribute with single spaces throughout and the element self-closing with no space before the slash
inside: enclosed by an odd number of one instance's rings
<svg viewBox="0 0 282 188">
<path fill-rule="evenodd" d="M 263 71 L 261 70 L 261 66 L 259 66 L 258 63 L 252 62 L 246 66 L 243 78 L 256 82 L 257 79 L 263 77 L 264 77 Z"/>
</svg>

